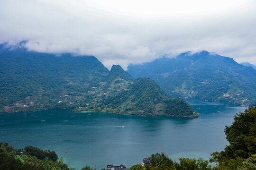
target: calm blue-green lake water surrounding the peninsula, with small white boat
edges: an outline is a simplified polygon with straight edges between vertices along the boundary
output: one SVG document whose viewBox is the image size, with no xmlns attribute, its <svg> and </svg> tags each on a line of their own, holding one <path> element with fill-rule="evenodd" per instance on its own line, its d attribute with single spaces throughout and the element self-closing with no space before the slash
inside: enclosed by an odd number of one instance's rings
<svg viewBox="0 0 256 170">
<path fill-rule="evenodd" d="M 69 167 L 107 164 L 129 167 L 152 153 L 208 159 L 228 144 L 225 125 L 245 107 L 189 100 L 199 118 L 140 117 L 112 113 L 43 110 L 0 114 L 0 141 L 14 148 L 27 145 L 54 150 Z M 199 109 L 200 108 L 200 109 Z M 125 127 L 120 127 L 125 125 Z M 67 153 L 65 153 L 65 151 Z"/>
</svg>

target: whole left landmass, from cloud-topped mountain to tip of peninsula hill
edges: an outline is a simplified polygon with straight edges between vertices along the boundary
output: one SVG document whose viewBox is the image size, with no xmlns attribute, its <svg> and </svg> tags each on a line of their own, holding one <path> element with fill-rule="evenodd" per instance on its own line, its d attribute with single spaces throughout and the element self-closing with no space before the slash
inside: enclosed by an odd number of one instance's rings
<svg viewBox="0 0 256 170">
<path fill-rule="evenodd" d="M 197 116 L 187 102 L 172 100 L 153 80 L 133 81 L 119 65 L 109 71 L 93 56 L 38 53 L 0 45 L 0 112 L 75 108 Z M 180 104 L 172 105 L 176 102 Z"/>
</svg>

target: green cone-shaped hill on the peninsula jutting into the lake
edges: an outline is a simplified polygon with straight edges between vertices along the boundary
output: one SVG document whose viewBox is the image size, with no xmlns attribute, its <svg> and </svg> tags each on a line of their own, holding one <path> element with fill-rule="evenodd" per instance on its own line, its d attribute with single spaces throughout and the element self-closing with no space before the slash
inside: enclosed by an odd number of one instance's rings
<svg viewBox="0 0 256 170">
<path fill-rule="evenodd" d="M 104 93 L 102 93 L 104 92 Z M 95 89 L 98 94 L 84 107 L 74 111 L 107 111 L 143 116 L 172 115 L 197 117 L 199 114 L 181 99 L 171 99 L 150 78 L 137 78 L 133 83 L 117 78 L 112 84 Z"/>
</svg>

